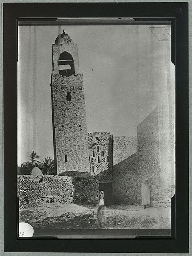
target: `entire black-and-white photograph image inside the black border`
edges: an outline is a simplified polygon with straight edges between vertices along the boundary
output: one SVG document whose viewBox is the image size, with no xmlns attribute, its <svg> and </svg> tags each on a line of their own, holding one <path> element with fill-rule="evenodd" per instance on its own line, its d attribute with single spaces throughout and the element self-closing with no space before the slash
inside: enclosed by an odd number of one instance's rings
<svg viewBox="0 0 192 256">
<path fill-rule="evenodd" d="M 171 228 L 171 25 L 19 25 L 17 116 L 20 237 Z"/>
</svg>

